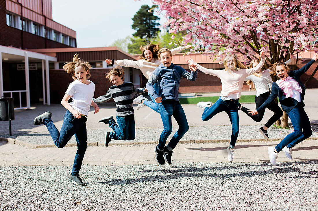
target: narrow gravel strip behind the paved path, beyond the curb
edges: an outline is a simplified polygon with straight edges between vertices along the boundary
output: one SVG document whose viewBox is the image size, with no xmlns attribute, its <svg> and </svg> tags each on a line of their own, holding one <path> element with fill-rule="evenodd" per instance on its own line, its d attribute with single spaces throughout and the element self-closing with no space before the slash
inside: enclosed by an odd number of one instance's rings
<svg viewBox="0 0 318 211">
<path fill-rule="evenodd" d="M 106 126 L 106 125 L 105 125 Z M 240 125 L 240 132 L 238 139 L 261 139 L 264 136 L 258 131 L 262 125 Z M 318 137 L 318 125 L 311 125 L 313 135 L 311 137 Z M 176 132 L 178 128 L 173 127 L 170 135 Z M 284 138 L 291 133 L 293 129 L 279 129 L 270 127 L 268 134 L 270 138 Z M 105 131 L 112 131 L 108 126 L 105 129 L 87 129 L 87 142 L 103 142 L 105 138 Z M 134 141 L 157 141 L 162 132 L 162 127 L 158 128 L 136 128 L 136 138 Z M 231 126 L 192 126 L 189 131 L 183 136 L 181 140 L 229 140 L 232 134 Z M 10 137 L 20 139 L 33 144 L 53 144 L 49 132 L 29 132 L 14 134 L 13 136 L 3 135 L 3 137 Z M 168 138 L 169 140 L 169 138 Z M 69 143 L 75 143 L 73 136 Z M 112 141 L 127 142 L 127 141 Z M 130 141 L 133 142 L 133 141 Z"/>
</svg>

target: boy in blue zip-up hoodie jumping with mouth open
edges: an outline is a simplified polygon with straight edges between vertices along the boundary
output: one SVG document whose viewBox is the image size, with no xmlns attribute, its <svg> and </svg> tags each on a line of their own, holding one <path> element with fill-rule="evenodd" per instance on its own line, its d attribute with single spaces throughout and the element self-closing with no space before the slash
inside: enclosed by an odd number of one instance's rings
<svg viewBox="0 0 318 211">
<path fill-rule="evenodd" d="M 171 63 L 172 54 L 168 48 L 162 48 L 158 52 L 161 62 L 149 78 L 146 88 L 150 95 L 159 104 L 159 112 L 163 123 L 163 131 L 159 137 L 159 144 L 155 147 L 156 158 L 159 164 L 163 165 L 164 160 L 171 165 L 172 150 L 179 140 L 189 130 L 187 118 L 178 99 L 179 85 L 181 77 L 188 80 L 197 79 L 197 67 L 190 65 L 191 73 L 178 65 Z M 158 92 L 154 89 L 154 84 L 158 83 Z M 172 132 L 171 116 L 176 119 L 179 125 L 178 131 L 173 135 L 170 142 L 165 146 L 167 138 Z"/>
</svg>

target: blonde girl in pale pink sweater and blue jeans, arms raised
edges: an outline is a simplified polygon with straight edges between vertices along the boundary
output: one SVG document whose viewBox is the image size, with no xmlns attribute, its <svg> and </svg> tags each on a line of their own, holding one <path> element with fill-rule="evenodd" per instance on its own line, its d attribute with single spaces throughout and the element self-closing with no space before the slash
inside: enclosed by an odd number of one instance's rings
<svg viewBox="0 0 318 211">
<path fill-rule="evenodd" d="M 234 147 L 239 135 L 239 113 L 238 104 L 243 88 L 244 80 L 247 76 L 260 71 L 265 63 L 265 52 L 260 53 L 261 61 L 256 67 L 246 69 L 246 67 L 236 58 L 234 54 L 227 55 L 223 62 L 225 69 L 212 70 L 204 68 L 192 59 L 187 60 L 187 64 L 195 65 L 198 70 L 205 74 L 217 76 L 221 79 L 222 91 L 220 98 L 212 105 L 211 102 L 199 102 L 197 107 L 204 108 L 202 120 L 208 121 L 219 112 L 225 111 L 232 124 L 232 136 L 230 146 L 226 149 L 228 156 L 227 159 L 233 161 Z"/>
</svg>

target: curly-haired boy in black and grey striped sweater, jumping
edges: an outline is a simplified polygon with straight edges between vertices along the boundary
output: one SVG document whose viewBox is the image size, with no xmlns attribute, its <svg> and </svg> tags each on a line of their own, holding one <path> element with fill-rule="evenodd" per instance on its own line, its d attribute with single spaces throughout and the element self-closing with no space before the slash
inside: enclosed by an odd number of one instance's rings
<svg viewBox="0 0 318 211">
<path fill-rule="evenodd" d="M 95 103 L 103 103 L 110 99 L 114 99 L 116 103 L 116 124 L 113 116 L 101 118 L 98 122 L 108 124 L 114 132 L 105 133 L 104 146 L 107 147 L 108 143 L 114 140 L 134 140 L 135 139 L 135 115 L 133 109 L 133 93 L 140 94 L 147 92 L 145 88 L 136 88 L 135 84 L 124 81 L 124 70 L 120 66 L 111 69 L 106 78 L 114 84 L 109 87 L 106 95 L 102 95 L 96 99 L 93 98 Z"/>
</svg>

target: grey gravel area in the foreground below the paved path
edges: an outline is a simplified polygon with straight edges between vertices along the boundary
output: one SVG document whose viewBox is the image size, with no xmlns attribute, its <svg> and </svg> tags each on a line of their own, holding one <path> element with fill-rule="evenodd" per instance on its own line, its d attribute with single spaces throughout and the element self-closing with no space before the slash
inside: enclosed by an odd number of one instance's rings
<svg viewBox="0 0 318 211">
<path fill-rule="evenodd" d="M 318 161 L 0 167 L 0 210 L 318 210 Z"/>
</svg>

